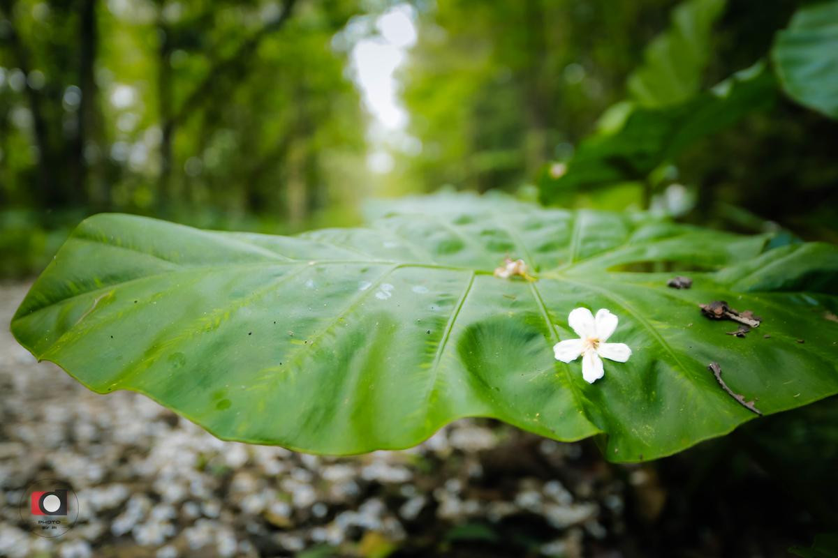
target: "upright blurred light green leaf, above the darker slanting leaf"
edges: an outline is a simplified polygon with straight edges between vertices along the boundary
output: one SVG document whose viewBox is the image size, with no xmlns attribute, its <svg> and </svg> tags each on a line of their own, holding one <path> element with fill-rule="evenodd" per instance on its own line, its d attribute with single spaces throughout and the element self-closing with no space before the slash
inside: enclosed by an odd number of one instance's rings
<svg viewBox="0 0 838 558">
<path fill-rule="evenodd" d="M 643 65 L 629 76 L 639 105 L 677 105 L 701 90 L 712 26 L 724 8 L 725 0 L 687 0 L 672 11 L 671 27 L 646 47 Z"/>
</svg>

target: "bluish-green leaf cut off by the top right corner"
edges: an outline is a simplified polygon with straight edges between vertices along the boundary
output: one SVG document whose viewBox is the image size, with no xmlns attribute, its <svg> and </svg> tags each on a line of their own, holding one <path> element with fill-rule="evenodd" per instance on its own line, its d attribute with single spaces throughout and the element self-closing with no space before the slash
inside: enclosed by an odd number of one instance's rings
<svg viewBox="0 0 838 558">
<path fill-rule="evenodd" d="M 800 8 L 777 33 L 771 57 L 792 99 L 838 118 L 838 2 Z"/>
</svg>

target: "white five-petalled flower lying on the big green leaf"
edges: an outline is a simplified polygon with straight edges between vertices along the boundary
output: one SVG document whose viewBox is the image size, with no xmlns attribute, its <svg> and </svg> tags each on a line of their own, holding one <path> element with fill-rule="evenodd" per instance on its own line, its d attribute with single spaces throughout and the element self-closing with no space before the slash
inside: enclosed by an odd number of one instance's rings
<svg viewBox="0 0 838 558">
<path fill-rule="evenodd" d="M 608 337 L 617 329 L 617 316 L 604 308 L 597 311 L 594 318 L 591 310 L 577 308 L 567 315 L 567 323 L 579 339 L 560 341 L 553 346 L 556 361 L 571 362 L 582 356 L 582 377 L 592 384 L 603 377 L 603 361 L 625 362 L 631 356 L 631 349 L 625 343 L 606 343 Z"/>
</svg>

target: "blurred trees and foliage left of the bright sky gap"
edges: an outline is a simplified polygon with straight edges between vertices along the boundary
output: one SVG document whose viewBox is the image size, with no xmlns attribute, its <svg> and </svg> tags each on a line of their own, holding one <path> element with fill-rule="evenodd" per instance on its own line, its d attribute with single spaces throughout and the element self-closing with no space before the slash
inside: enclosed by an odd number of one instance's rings
<svg viewBox="0 0 838 558">
<path fill-rule="evenodd" d="M 365 182 L 365 119 L 333 39 L 359 11 L 2 0 L 0 275 L 38 270 L 57 248 L 44 238 L 92 212 L 257 230 L 349 218 L 332 209 L 351 213 Z"/>
</svg>

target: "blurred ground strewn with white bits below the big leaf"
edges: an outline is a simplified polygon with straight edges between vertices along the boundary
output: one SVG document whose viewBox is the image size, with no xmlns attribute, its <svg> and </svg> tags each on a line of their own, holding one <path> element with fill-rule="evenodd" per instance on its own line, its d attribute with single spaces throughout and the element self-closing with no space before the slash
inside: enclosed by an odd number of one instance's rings
<svg viewBox="0 0 838 558">
<path fill-rule="evenodd" d="M 644 509 L 660 510 L 653 469 L 482 419 L 351 458 L 222 442 L 146 397 L 97 395 L 36 362 L 8 333 L 27 288 L 0 285 L 0 555 L 618 556 L 608 540 L 624 529 L 624 485 L 646 486 Z M 18 514 L 44 478 L 80 504 L 55 539 Z"/>
</svg>

